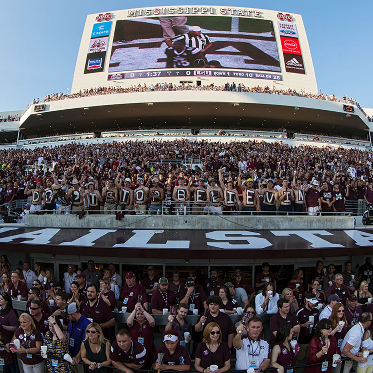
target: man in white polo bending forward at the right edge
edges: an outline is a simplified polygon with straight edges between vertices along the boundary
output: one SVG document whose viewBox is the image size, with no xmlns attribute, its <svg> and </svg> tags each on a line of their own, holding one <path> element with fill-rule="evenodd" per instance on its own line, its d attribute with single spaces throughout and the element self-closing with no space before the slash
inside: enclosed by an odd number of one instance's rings
<svg viewBox="0 0 373 373">
<path fill-rule="evenodd" d="M 350 360 L 345 361 L 343 373 L 350 372 L 354 361 L 363 364 L 367 362 L 368 359 L 363 357 L 363 352 L 360 352 L 360 349 L 361 342 L 363 342 L 364 329 L 368 328 L 370 323 L 372 323 L 372 314 L 363 312 L 358 324 L 352 326 L 345 335 L 341 346 L 342 357 L 348 357 Z M 366 348 L 363 349 L 366 350 Z"/>
</svg>

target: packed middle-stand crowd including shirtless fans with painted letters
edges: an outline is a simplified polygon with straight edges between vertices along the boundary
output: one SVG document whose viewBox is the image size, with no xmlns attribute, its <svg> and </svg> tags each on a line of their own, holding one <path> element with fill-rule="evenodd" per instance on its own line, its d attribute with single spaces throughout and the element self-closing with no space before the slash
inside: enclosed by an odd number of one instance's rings
<svg viewBox="0 0 373 373">
<path fill-rule="evenodd" d="M 200 164 L 184 162 L 194 156 Z M 371 157 L 358 149 L 187 139 L 1 150 L 0 204 L 30 196 L 25 213 L 123 217 L 126 210 L 157 214 L 164 204 L 174 214 L 341 214 L 348 200 L 362 214 L 373 203 Z M 50 167 L 27 167 L 44 162 Z"/>
</svg>

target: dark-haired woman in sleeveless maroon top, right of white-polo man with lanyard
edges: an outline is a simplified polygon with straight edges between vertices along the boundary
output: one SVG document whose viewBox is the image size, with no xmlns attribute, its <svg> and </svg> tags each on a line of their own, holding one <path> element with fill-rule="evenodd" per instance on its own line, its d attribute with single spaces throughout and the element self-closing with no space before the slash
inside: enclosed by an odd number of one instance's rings
<svg viewBox="0 0 373 373">
<path fill-rule="evenodd" d="M 293 365 L 295 352 L 290 345 L 292 338 L 293 332 L 290 326 L 282 326 L 276 333 L 275 344 L 271 354 L 271 366 L 276 368 L 278 373 L 286 372 L 284 367 Z"/>
</svg>

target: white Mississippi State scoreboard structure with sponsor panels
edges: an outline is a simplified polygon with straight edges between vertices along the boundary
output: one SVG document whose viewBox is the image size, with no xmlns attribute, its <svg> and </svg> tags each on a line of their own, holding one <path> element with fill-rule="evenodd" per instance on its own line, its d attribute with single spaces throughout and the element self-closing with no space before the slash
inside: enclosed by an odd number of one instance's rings
<svg viewBox="0 0 373 373">
<path fill-rule="evenodd" d="M 170 23 L 177 28 L 170 31 Z M 200 26 L 210 38 L 207 66 L 167 67 L 165 38 L 191 26 Z M 220 66 L 211 68 L 211 61 Z M 72 93 L 97 86 L 198 80 L 202 85 L 242 82 L 316 93 L 301 15 L 234 6 L 167 6 L 87 16 Z"/>
</svg>

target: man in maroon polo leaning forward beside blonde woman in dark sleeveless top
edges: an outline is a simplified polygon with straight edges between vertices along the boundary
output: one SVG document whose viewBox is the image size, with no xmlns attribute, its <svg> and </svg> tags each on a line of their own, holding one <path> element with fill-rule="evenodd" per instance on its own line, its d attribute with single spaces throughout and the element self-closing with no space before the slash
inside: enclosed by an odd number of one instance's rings
<svg viewBox="0 0 373 373">
<path fill-rule="evenodd" d="M 118 330 L 116 341 L 110 348 L 110 359 L 116 369 L 133 373 L 135 369 L 142 368 L 147 357 L 148 352 L 145 347 L 137 341 L 132 341 L 127 329 Z"/>
</svg>

